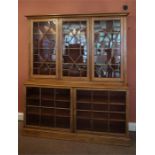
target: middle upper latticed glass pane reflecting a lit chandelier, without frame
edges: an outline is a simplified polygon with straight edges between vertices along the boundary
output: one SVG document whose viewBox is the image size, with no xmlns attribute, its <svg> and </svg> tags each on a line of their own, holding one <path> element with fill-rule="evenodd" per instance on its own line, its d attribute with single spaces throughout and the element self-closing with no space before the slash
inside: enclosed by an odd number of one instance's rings
<svg viewBox="0 0 155 155">
<path fill-rule="evenodd" d="M 87 22 L 63 22 L 63 76 L 87 76 Z"/>
</svg>

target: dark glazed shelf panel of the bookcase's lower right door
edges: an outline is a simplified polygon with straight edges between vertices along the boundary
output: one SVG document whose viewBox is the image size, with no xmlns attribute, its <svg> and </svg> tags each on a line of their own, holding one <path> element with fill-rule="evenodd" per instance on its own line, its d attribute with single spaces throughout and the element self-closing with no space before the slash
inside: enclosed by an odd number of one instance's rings
<svg viewBox="0 0 155 155">
<path fill-rule="evenodd" d="M 126 91 L 76 91 L 76 130 L 126 133 Z"/>
</svg>

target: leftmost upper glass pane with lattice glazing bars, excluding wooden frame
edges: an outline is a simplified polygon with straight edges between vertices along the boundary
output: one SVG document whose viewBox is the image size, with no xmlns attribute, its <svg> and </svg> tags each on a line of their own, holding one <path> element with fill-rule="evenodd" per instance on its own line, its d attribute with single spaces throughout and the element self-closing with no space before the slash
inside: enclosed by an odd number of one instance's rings
<svg viewBox="0 0 155 155">
<path fill-rule="evenodd" d="M 33 74 L 56 74 L 56 21 L 33 23 Z"/>
</svg>

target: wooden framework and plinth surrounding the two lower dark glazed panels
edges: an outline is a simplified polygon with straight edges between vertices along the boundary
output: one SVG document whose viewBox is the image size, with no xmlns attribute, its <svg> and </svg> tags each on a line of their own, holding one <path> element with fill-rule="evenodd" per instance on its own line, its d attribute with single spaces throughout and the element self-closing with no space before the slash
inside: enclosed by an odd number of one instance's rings
<svg viewBox="0 0 155 155">
<path fill-rule="evenodd" d="M 91 141 L 88 137 L 89 135 L 92 135 L 96 140 L 94 141 L 95 143 L 113 143 L 116 145 L 129 145 L 130 144 L 130 139 L 128 138 L 128 90 L 124 88 L 80 88 L 80 87 L 73 87 L 70 88 L 67 85 L 66 86 L 41 86 L 41 85 L 31 85 L 31 84 L 26 84 L 25 87 L 38 87 L 38 88 L 54 88 L 54 89 L 69 89 L 70 90 L 70 128 L 69 129 L 63 129 L 63 128 L 51 128 L 51 127 L 42 127 L 42 126 L 33 126 L 33 125 L 27 125 L 26 124 L 26 119 L 24 121 L 24 134 L 32 135 L 35 136 L 35 133 L 38 135 L 42 135 L 44 133 L 45 137 L 48 136 L 49 138 L 53 133 L 57 133 L 55 138 L 58 139 L 73 139 L 73 140 L 79 140 L 79 141 Z M 86 91 L 118 91 L 118 92 L 125 92 L 126 93 L 126 130 L 125 133 L 113 133 L 113 132 L 99 132 L 99 131 L 88 131 L 88 130 L 77 130 L 76 129 L 76 120 L 77 120 L 77 114 L 76 114 L 76 94 L 78 90 L 86 90 Z M 26 106 L 25 106 L 26 107 Z M 26 109 L 25 109 L 26 110 Z M 25 113 L 26 115 L 26 113 Z M 71 138 L 71 135 L 74 135 L 74 138 Z M 44 136 L 43 136 L 44 137 Z M 85 137 L 84 139 L 81 139 L 80 137 Z M 53 136 L 52 136 L 53 138 Z M 93 138 L 93 139 L 94 139 Z M 113 139 L 113 140 L 112 140 Z M 119 143 L 118 139 L 120 140 L 121 143 Z M 111 141 L 112 140 L 112 141 Z"/>
</svg>

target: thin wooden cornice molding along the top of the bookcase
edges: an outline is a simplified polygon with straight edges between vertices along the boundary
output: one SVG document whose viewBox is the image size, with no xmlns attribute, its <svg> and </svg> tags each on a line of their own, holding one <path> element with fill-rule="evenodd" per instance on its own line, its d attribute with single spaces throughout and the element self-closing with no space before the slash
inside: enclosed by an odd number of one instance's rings
<svg viewBox="0 0 155 155">
<path fill-rule="evenodd" d="M 118 16 L 128 16 L 129 12 L 120 12 L 120 13 L 91 13 L 91 14 L 48 14 L 48 15 L 26 15 L 28 19 L 33 18 L 78 18 L 78 17 L 118 17 Z"/>
</svg>

